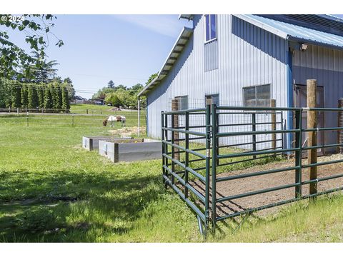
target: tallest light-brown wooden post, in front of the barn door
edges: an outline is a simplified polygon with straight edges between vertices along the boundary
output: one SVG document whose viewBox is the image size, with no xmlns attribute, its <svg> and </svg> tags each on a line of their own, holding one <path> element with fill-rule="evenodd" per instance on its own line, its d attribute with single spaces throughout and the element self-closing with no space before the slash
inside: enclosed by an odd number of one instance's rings
<svg viewBox="0 0 343 257">
<path fill-rule="evenodd" d="M 317 80 L 307 79 L 307 107 L 315 108 L 317 103 Z M 317 129 L 317 111 L 307 111 L 307 129 Z M 317 131 L 307 132 L 307 146 L 317 146 Z M 317 149 L 308 150 L 308 163 L 317 163 Z M 309 168 L 309 179 L 317 179 L 317 166 Z M 309 184 L 309 193 L 317 193 L 317 183 Z"/>
</svg>

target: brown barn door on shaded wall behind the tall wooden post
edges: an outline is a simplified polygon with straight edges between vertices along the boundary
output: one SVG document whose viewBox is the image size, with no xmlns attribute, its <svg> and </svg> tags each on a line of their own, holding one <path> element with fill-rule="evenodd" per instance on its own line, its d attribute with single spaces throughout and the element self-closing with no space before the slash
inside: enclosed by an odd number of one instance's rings
<svg viewBox="0 0 343 257">
<path fill-rule="evenodd" d="M 294 85 L 294 106 L 307 107 L 307 89 L 304 85 Z M 317 86 L 317 106 L 324 107 L 324 87 Z M 317 112 L 318 128 L 324 128 L 324 111 Z M 307 111 L 302 112 L 302 128 L 307 129 Z M 323 145 L 325 142 L 324 131 L 317 133 L 317 144 Z M 302 133 L 302 145 L 307 146 L 307 133 Z M 318 155 L 324 155 L 324 148 L 317 150 Z M 303 157 L 307 156 L 307 151 L 303 151 Z"/>
</svg>

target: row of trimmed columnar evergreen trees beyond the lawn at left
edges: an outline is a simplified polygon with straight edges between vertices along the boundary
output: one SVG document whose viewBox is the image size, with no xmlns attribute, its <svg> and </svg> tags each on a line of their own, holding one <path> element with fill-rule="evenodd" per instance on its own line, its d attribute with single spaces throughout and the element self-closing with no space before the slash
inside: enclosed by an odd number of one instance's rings
<svg viewBox="0 0 343 257">
<path fill-rule="evenodd" d="M 2 82 L 4 84 L 5 81 Z M 6 81 L 5 83 L 4 89 L 7 94 L 4 96 L 6 99 L 3 102 L 7 108 L 70 109 L 68 91 L 70 85 L 68 83 L 19 84 L 17 81 Z"/>
</svg>

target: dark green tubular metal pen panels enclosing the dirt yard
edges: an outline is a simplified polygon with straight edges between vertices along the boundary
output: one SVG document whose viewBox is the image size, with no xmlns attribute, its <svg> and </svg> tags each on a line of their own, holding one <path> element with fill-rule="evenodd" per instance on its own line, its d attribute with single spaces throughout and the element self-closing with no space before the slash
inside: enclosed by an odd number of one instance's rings
<svg viewBox="0 0 343 257">
<path fill-rule="evenodd" d="M 343 159 L 322 161 L 319 163 L 302 163 L 302 151 L 318 148 L 336 148 L 342 146 L 343 143 L 328 143 L 320 146 L 303 146 L 302 132 L 309 131 L 339 131 L 342 127 L 330 128 L 302 128 L 302 112 L 303 111 L 333 111 L 338 112 L 342 109 L 323 109 L 323 108 L 272 108 L 272 107 L 237 107 L 237 106 L 216 106 L 207 105 L 204 109 L 188 109 L 182 111 L 162 111 L 161 112 L 161 128 L 162 128 L 162 169 L 163 180 L 166 186 L 171 186 L 179 196 L 189 205 L 190 208 L 197 214 L 199 228 L 202 233 L 206 233 L 211 226 L 212 230 L 216 228 L 217 221 L 223 221 L 226 218 L 240 216 L 242 214 L 250 214 L 254 211 L 259 211 L 265 208 L 280 206 L 285 203 L 299 201 L 304 198 L 312 198 L 324 193 L 332 193 L 342 190 L 343 185 L 338 188 L 330 188 L 317 193 L 304 194 L 302 186 L 321 181 L 328 181 L 334 178 L 343 177 L 343 173 L 334 174 L 333 176 L 323 176 L 316 179 L 303 179 L 302 171 L 304 168 L 313 166 L 323 166 L 332 163 L 343 162 Z M 294 117 L 294 129 L 285 129 L 283 124 L 284 114 Z M 234 115 L 251 115 L 251 123 L 223 124 L 219 123 L 222 116 Z M 266 129 L 271 122 L 258 122 L 256 115 L 258 114 L 280 114 L 281 121 L 277 121 L 280 129 Z M 178 116 L 178 119 L 175 117 Z M 180 126 L 175 124 L 175 121 L 183 117 L 184 124 Z M 293 125 L 293 124 L 292 124 Z M 247 127 L 248 130 L 232 131 L 228 129 L 230 126 L 239 126 L 239 128 Z M 256 129 L 256 126 L 264 126 L 263 129 Z M 226 131 L 225 131 L 226 130 Z M 179 136 L 179 135 L 182 136 Z M 257 135 L 274 135 L 281 134 L 279 138 L 274 138 L 274 141 L 279 141 L 277 147 L 274 148 L 258 148 L 259 143 L 256 139 Z M 288 135 L 289 140 L 293 141 L 291 148 L 284 148 L 284 135 Z M 239 152 L 224 152 L 223 149 L 244 145 L 244 143 L 219 144 L 222 138 L 252 136 L 252 150 L 245 149 Z M 268 141 L 268 140 L 267 140 Z M 263 142 L 263 141 L 261 141 Z M 248 144 L 248 143 L 245 143 Z M 294 156 L 292 166 L 284 168 L 275 168 L 267 171 L 255 171 L 250 173 L 239 173 L 231 176 L 218 176 L 218 169 L 229 167 L 237 163 L 247 161 L 257 161 L 259 158 L 276 158 L 277 155 L 284 156 L 285 154 Z M 293 159 L 292 159 L 293 160 Z M 217 192 L 217 184 L 225 183 L 225 181 L 242 181 L 247 178 L 265 176 L 267 174 L 282 173 L 286 171 L 294 171 L 294 181 L 279 186 L 270 185 L 268 188 L 262 188 L 255 191 L 246 191 L 229 196 L 219 195 Z M 193 181 L 202 183 L 204 190 L 199 190 L 199 187 L 194 186 Z M 281 191 L 287 188 L 294 188 L 294 195 L 291 198 L 279 199 L 268 204 L 254 206 L 252 208 L 244 208 L 242 211 L 232 211 L 226 215 L 218 215 L 217 208 L 219 203 L 233 201 L 239 198 L 256 196 L 263 193 Z"/>
</svg>

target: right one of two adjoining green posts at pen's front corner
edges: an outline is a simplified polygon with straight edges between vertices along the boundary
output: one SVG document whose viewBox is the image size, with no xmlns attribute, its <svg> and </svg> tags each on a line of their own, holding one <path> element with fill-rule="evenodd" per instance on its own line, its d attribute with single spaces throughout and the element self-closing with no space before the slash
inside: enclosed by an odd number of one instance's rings
<svg viewBox="0 0 343 257">
<path fill-rule="evenodd" d="M 212 104 L 212 228 L 216 229 L 217 222 L 217 106 Z"/>
</svg>

